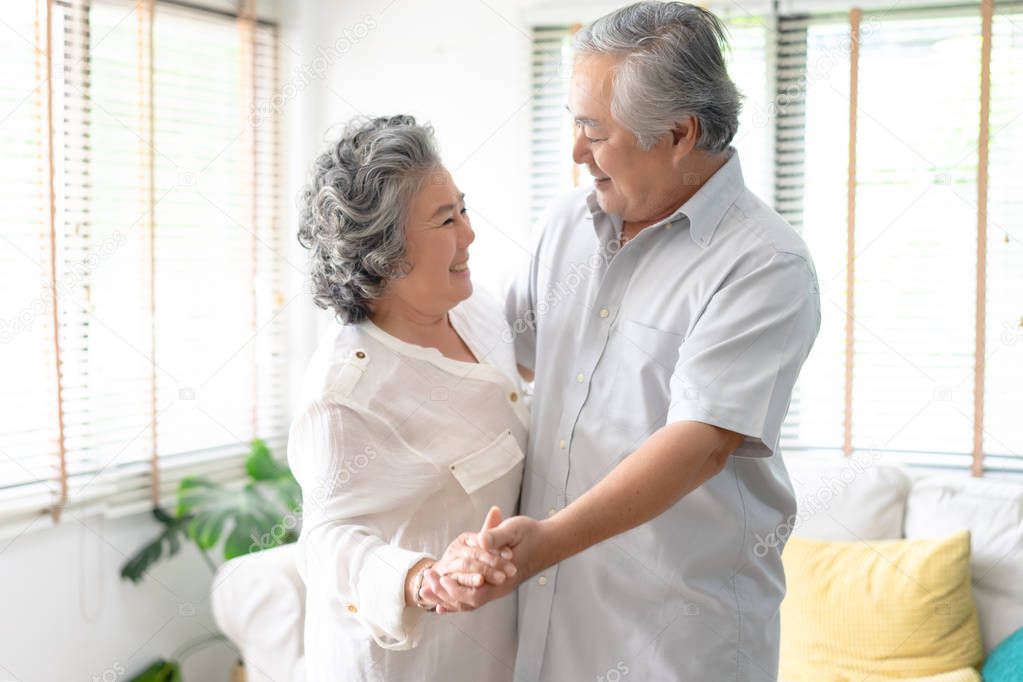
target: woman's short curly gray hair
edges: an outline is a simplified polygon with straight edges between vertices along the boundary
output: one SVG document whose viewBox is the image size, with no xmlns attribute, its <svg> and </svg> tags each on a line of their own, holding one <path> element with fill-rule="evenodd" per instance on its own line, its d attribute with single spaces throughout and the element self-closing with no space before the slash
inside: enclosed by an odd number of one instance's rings
<svg viewBox="0 0 1023 682">
<path fill-rule="evenodd" d="M 310 251 L 317 306 L 344 323 L 369 316 L 388 280 L 407 272 L 409 204 L 440 165 L 433 129 L 410 116 L 356 119 L 316 157 L 299 242 Z"/>
</svg>

